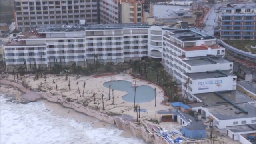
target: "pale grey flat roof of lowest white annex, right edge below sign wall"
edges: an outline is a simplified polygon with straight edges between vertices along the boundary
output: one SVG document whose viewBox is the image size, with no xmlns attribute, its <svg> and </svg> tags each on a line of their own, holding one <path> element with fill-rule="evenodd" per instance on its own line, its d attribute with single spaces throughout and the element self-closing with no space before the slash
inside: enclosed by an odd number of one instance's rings
<svg viewBox="0 0 256 144">
<path fill-rule="evenodd" d="M 218 118 L 219 120 L 230 120 L 230 119 L 239 119 L 239 118 L 255 118 L 255 107 L 249 103 L 240 103 L 237 104 L 239 107 L 246 110 L 248 113 L 241 112 L 239 108 L 233 106 L 232 104 L 224 104 L 217 106 L 207 106 L 204 107 L 209 111 L 210 114 Z"/>
</svg>

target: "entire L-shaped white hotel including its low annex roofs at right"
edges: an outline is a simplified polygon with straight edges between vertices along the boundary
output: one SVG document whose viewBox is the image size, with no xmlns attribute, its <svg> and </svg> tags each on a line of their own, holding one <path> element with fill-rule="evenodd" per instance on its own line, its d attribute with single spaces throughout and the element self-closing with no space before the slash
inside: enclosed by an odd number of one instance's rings
<svg viewBox="0 0 256 144">
<path fill-rule="evenodd" d="M 84 66 L 84 60 L 94 63 L 94 53 L 101 63 L 145 56 L 161 59 L 183 94 L 188 90 L 186 96 L 194 101 L 188 105 L 206 118 L 205 122 L 213 118 L 213 126 L 220 129 L 256 123 L 255 100 L 236 91 L 237 76 L 232 74 L 233 63 L 223 58 L 225 48 L 216 45 L 216 38 L 193 29 L 144 23 L 50 26 L 10 39 L 4 46 L 9 70 L 25 61 L 28 68 L 30 62 L 32 67 L 34 63 L 49 67 L 50 62 L 53 66 L 54 58 L 58 64 L 62 59 L 62 66 Z"/>
</svg>

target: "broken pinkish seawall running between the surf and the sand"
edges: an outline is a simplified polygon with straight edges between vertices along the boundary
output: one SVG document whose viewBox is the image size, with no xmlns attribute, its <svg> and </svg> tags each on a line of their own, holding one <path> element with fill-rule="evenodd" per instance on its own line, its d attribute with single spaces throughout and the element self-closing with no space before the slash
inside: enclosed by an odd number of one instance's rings
<svg viewBox="0 0 256 144">
<path fill-rule="evenodd" d="M 24 88 L 24 86 L 22 86 L 22 84 L 20 84 L 20 83 L 11 82 L 8 80 L 4 80 L 2 78 L 1 78 L 0 83 L 15 86 L 25 93 L 30 92 L 30 90 Z M 108 115 L 102 114 L 96 110 L 86 108 L 82 104 L 78 104 L 76 102 L 68 102 L 66 99 L 62 98 L 62 96 L 52 96 L 52 94 L 50 94 L 49 92 L 45 92 L 42 94 L 42 97 L 50 102 L 58 102 L 66 108 L 72 108 L 72 109 L 76 110 L 77 112 L 81 112 L 88 116 L 92 116 L 94 118 L 97 118 L 98 120 L 107 122 L 109 124 L 116 124 L 113 116 L 108 116 Z M 131 130 L 131 132 L 133 133 L 134 136 L 141 136 L 146 143 L 169 144 L 165 138 L 163 138 L 162 136 L 157 136 L 155 133 L 152 134 L 149 130 L 147 130 L 147 128 L 144 128 L 143 126 L 139 126 L 133 122 L 124 121 L 120 117 L 118 117 L 118 119 L 119 119 L 120 124 L 122 125 L 122 128 L 124 130 L 128 130 L 128 129 Z"/>
</svg>

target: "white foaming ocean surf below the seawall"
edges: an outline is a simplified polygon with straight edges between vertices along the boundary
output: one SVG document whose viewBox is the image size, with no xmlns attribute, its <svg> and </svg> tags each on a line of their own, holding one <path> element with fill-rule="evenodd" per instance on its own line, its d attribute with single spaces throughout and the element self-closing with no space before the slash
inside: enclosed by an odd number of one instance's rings
<svg viewBox="0 0 256 144">
<path fill-rule="evenodd" d="M 90 123 L 56 116 L 44 102 L 14 104 L 0 96 L 0 143 L 66 143 L 66 144 L 143 144 L 142 138 L 125 138 L 122 130 L 93 128 Z"/>
</svg>

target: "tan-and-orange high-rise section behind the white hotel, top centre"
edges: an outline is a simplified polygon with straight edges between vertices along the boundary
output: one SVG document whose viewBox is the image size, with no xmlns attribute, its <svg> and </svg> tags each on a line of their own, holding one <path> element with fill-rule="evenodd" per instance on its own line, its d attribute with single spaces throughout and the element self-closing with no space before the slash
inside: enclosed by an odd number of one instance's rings
<svg viewBox="0 0 256 144">
<path fill-rule="evenodd" d="M 100 23 L 146 22 L 153 17 L 153 6 L 148 0 L 100 0 Z"/>
</svg>

